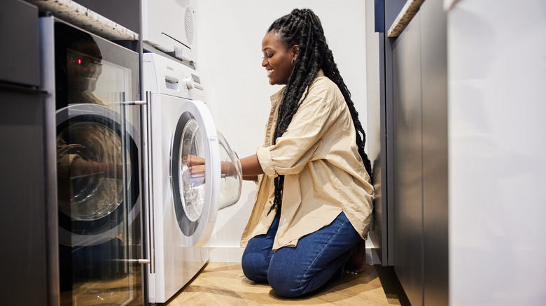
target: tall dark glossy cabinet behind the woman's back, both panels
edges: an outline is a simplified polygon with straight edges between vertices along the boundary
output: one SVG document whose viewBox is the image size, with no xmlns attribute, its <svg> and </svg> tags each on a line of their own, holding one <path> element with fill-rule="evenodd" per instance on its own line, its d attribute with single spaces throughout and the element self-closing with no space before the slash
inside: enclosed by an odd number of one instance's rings
<svg viewBox="0 0 546 306">
<path fill-rule="evenodd" d="M 382 263 L 393 265 L 412 305 L 447 305 L 446 15 L 442 0 L 426 0 L 398 37 L 388 37 L 406 2 L 378 0 L 374 8 L 376 22 L 383 18 Z"/>
</svg>

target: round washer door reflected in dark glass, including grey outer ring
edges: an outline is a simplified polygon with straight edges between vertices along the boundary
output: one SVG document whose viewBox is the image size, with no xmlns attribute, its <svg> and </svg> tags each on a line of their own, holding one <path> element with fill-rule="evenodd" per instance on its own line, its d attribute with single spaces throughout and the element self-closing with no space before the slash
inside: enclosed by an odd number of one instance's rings
<svg viewBox="0 0 546 306">
<path fill-rule="evenodd" d="M 138 134 L 103 105 L 57 110 L 59 242 L 97 245 L 123 233 L 139 205 Z"/>
</svg>

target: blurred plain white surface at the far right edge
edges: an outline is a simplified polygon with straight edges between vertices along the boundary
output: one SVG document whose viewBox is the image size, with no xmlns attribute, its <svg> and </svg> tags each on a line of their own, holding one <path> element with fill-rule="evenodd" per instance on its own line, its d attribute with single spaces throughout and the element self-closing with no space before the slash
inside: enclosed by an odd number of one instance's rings
<svg viewBox="0 0 546 306">
<path fill-rule="evenodd" d="M 448 14 L 449 304 L 545 305 L 546 2 Z"/>
</svg>

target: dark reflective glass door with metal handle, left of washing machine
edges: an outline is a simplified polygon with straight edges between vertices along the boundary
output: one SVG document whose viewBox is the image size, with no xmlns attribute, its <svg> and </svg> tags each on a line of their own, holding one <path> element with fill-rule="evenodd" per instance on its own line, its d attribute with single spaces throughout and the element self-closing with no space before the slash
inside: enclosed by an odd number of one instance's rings
<svg viewBox="0 0 546 306">
<path fill-rule="evenodd" d="M 142 305 L 138 55 L 55 23 L 62 305 Z"/>
</svg>

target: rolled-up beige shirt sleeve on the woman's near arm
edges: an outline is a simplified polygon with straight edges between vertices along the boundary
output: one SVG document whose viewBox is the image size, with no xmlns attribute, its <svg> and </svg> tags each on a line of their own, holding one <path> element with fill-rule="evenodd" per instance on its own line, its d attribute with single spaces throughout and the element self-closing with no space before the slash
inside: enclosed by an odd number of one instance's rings
<svg viewBox="0 0 546 306">
<path fill-rule="evenodd" d="M 325 130 L 332 122 L 331 106 L 321 96 L 304 99 L 288 129 L 276 143 L 258 148 L 256 154 L 265 175 L 297 174 L 314 156 Z"/>
</svg>

